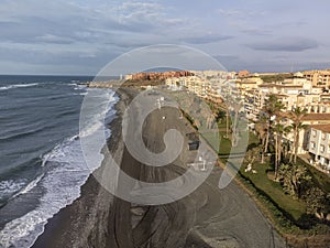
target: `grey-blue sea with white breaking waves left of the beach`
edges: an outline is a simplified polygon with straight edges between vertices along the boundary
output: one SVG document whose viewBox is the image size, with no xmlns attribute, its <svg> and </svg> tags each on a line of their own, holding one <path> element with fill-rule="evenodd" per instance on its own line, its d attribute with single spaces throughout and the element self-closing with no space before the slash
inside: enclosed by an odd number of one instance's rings
<svg viewBox="0 0 330 248">
<path fill-rule="evenodd" d="M 47 220 L 80 196 L 91 173 L 79 140 L 84 97 L 90 90 L 92 96 L 98 90 L 105 96 L 106 90 L 107 97 L 101 98 L 109 103 L 106 122 L 116 117 L 118 101 L 111 89 L 80 84 L 90 80 L 92 77 L 82 76 L 0 76 L 1 248 L 31 247 Z M 105 130 L 103 120 L 99 120 L 102 127 L 96 123 L 91 121 L 84 133 Z M 109 138 L 111 130 L 106 132 Z M 100 158 L 96 155 L 99 165 Z"/>
</svg>

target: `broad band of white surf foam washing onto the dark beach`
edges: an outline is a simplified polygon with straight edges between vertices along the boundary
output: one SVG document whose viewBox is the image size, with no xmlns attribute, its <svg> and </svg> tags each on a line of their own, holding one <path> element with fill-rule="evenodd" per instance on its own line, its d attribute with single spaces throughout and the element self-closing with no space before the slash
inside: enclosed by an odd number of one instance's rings
<svg viewBox="0 0 330 248">
<path fill-rule="evenodd" d="M 112 98 L 112 105 L 114 100 L 117 99 Z M 111 112 L 114 114 L 113 110 Z M 91 126 L 87 127 L 85 134 L 105 131 L 100 120 L 90 123 Z M 110 131 L 106 131 L 106 136 L 110 136 Z M 0 230 L 0 247 L 31 247 L 44 231 L 47 219 L 80 196 L 80 186 L 87 181 L 90 172 L 100 166 L 103 160 L 103 155 L 100 153 L 103 145 L 94 144 L 94 141 L 90 140 L 89 152 L 94 155 L 92 168 L 90 164 L 88 168 L 84 160 L 78 136 L 66 139 L 43 155 L 44 175 L 31 182 L 22 192 L 29 192 L 37 185 L 45 190 L 45 194 L 40 198 L 40 204 L 35 209 L 6 224 L 4 228 Z"/>
</svg>

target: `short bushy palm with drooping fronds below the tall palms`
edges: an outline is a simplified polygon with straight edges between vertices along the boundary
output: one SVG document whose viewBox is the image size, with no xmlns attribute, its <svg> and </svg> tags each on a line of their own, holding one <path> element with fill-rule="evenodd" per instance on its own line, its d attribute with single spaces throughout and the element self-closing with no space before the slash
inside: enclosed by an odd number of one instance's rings
<svg viewBox="0 0 330 248">
<path fill-rule="evenodd" d="M 282 164 L 278 170 L 278 179 L 283 190 L 295 198 L 301 197 L 311 181 L 311 176 L 302 164 Z"/>
</svg>

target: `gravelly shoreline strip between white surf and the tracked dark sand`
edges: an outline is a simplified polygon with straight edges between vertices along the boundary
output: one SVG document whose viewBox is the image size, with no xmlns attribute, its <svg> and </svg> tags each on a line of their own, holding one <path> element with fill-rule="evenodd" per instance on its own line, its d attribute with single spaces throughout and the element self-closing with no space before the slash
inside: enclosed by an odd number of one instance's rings
<svg viewBox="0 0 330 248">
<path fill-rule="evenodd" d="M 124 106 L 132 99 L 130 90 L 118 90 L 119 100 L 114 105 L 116 117 L 106 123 L 111 130 L 107 145 L 111 153 L 121 155 L 121 118 Z M 102 173 L 105 164 L 94 173 Z M 94 247 L 106 244 L 108 217 L 113 196 L 90 174 L 80 187 L 80 196 L 73 204 L 62 208 L 45 225 L 33 248 Z M 99 246 L 98 246 L 99 247 Z"/>
</svg>

